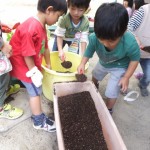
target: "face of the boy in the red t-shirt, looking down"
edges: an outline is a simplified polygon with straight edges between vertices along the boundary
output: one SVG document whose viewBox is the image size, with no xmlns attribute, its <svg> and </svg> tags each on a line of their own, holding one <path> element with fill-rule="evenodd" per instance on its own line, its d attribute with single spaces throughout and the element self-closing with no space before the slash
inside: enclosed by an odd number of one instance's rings
<svg viewBox="0 0 150 150">
<path fill-rule="evenodd" d="M 46 24 L 47 25 L 53 25 L 55 24 L 59 17 L 63 15 L 63 12 L 61 11 L 50 11 L 49 14 L 46 16 Z"/>
</svg>

